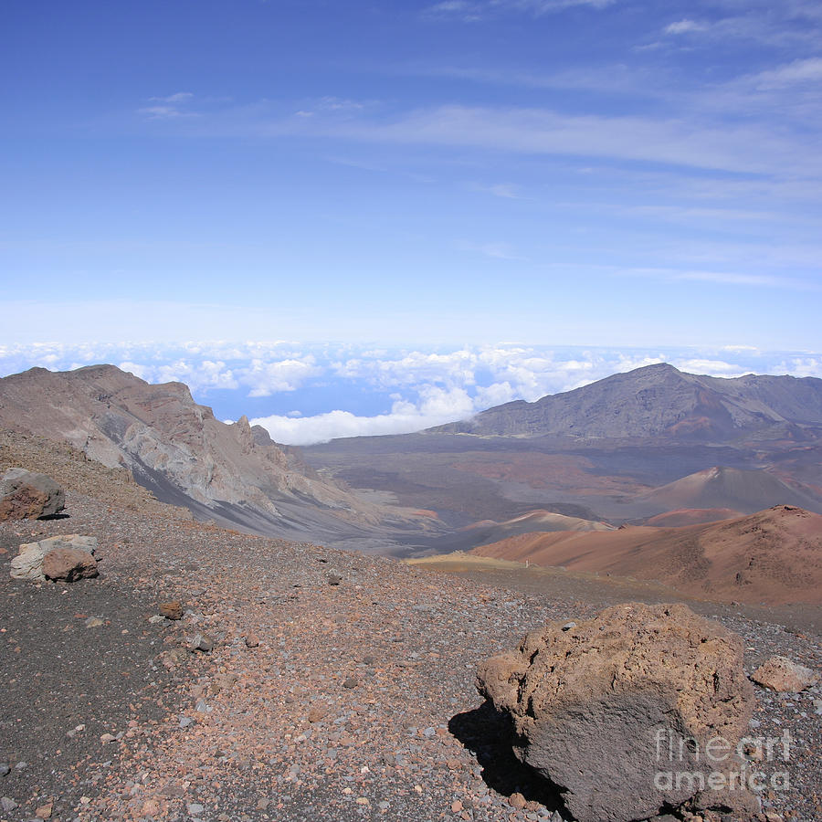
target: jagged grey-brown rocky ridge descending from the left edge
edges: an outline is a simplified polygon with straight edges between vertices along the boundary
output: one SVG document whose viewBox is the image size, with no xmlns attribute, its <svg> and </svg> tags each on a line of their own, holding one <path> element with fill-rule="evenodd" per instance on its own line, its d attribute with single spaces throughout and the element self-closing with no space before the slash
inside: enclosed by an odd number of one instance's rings
<svg viewBox="0 0 822 822">
<path fill-rule="evenodd" d="M 316 536 L 413 519 L 323 479 L 245 417 L 220 422 L 182 383 L 149 385 L 113 365 L 0 379 L 0 425 L 68 440 L 161 501 L 252 531 Z"/>
</svg>

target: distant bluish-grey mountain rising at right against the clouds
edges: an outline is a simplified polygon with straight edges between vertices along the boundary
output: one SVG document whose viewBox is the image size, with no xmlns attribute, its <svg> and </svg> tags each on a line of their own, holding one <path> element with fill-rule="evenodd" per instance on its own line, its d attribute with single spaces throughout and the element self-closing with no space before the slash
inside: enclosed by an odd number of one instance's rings
<svg viewBox="0 0 822 822">
<path fill-rule="evenodd" d="M 464 422 L 430 429 L 484 436 L 579 439 L 635 437 L 733 441 L 822 436 L 822 380 L 685 374 L 657 364 L 614 374 L 564 394 L 496 406 Z"/>
</svg>

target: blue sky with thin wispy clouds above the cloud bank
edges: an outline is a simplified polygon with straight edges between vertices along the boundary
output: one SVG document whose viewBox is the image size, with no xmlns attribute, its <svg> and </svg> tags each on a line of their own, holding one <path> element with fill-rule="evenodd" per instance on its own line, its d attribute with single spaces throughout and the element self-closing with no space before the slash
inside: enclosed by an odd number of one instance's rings
<svg viewBox="0 0 822 822">
<path fill-rule="evenodd" d="M 822 349 L 818 2 L 5 0 L 0 38 L 0 365 Z"/>
</svg>

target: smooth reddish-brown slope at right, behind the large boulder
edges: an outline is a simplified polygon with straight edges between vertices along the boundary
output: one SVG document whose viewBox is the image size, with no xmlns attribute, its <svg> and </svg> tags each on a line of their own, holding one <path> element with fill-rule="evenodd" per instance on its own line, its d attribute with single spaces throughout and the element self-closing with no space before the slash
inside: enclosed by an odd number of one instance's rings
<svg viewBox="0 0 822 822">
<path fill-rule="evenodd" d="M 786 505 L 685 528 L 528 533 L 472 553 L 655 579 L 711 599 L 822 604 L 822 516 Z"/>
</svg>

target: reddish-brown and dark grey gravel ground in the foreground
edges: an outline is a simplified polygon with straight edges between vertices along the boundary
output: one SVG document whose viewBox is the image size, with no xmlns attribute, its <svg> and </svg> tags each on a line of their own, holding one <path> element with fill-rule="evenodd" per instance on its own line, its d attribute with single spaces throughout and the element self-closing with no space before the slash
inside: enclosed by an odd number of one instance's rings
<svg viewBox="0 0 822 822">
<path fill-rule="evenodd" d="M 0 763 L 10 768 L 0 796 L 18 804 L 0 810 L 3 819 L 38 808 L 81 822 L 552 817 L 553 798 L 506 754 L 483 709 L 476 665 L 601 601 L 227 532 L 77 492 L 67 512 L 0 524 Z M 8 578 L 19 543 L 73 532 L 98 537 L 103 578 Z M 183 619 L 150 621 L 174 599 Z M 820 668 L 816 637 L 717 616 L 745 638 L 749 670 L 775 653 Z M 197 634 L 214 648 L 184 649 Z M 755 733 L 787 729 L 795 740 L 789 762 L 763 764 L 790 780 L 764 805 L 795 822 L 822 818 L 820 699 L 818 686 L 787 696 L 757 689 Z"/>
</svg>

